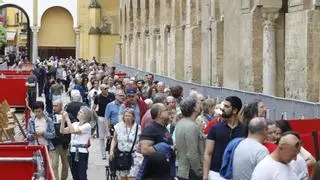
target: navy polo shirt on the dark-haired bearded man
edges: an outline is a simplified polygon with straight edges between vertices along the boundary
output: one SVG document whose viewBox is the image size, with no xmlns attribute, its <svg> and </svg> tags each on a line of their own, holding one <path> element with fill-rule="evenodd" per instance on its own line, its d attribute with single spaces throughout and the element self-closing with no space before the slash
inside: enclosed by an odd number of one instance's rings
<svg viewBox="0 0 320 180">
<path fill-rule="evenodd" d="M 224 150 L 229 142 L 237 137 L 245 136 L 245 126 L 240 122 L 231 129 L 226 120 L 213 126 L 208 134 L 208 139 L 215 141 L 211 157 L 211 171 L 219 172 L 222 164 Z"/>
</svg>

